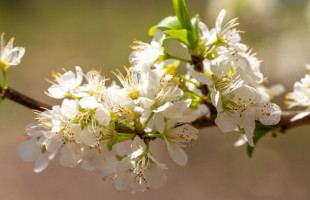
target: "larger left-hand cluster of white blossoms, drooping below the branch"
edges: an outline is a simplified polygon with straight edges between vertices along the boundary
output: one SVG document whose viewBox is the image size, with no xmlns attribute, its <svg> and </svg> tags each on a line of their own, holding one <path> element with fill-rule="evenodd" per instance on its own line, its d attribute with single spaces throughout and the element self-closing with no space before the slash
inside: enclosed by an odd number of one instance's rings
<svg viewBox="0 0 310 200">
<path fill-rule="evenodd" d="M 177 164 L 186 164 L 182 147 L 198 138 L 198 130 L 189 123 L 199 114 L 190 108 L 192 99 L 179 87 L 179 78 L 158 67 L 171 60 L 159 63 L 151 57 L 162 51 L 164 35 L 157 34 L 150 45 L 137 42 L 132 47 L 133 66 L 124 67 L 126 75 L 114 72 L 121 85 L 107 86 L 108 79 L 94 69 L 84 74 L 76 67 L 76 72 L 53 74 L 46 94 L 63 99 L 62 104 L 36 112 L 37 122 L 27 128 L 30 139 L 18 150 L 23 160 L 36 162 L 35 172 L 44 170 L 60 151 L 63 166 L 81 163 L 86 170 L 111 175 L 117 189 L 157 188 L 166 181 L 166 166 L 150 151 L 154 138 L 166 143 Z M 133 142 L 127 153 L 123 143 L 129 140 Z"/>
</svg>

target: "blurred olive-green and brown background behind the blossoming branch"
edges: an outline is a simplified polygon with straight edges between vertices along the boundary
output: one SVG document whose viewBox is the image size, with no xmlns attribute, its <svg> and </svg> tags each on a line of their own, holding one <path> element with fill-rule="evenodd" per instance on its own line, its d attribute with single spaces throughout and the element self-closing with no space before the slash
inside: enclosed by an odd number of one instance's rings
<svg viewBox="0 0 310 200">
<path fill-rule="evenodd" d="M 192 16 L 211 28 L 221 8 L 239 17 L 246 31 L 243 42 L 263 59 L 266 84 L 293 83 L 308 71 L 310 63 L 310 1 L 306 0 L 191 0 Z M 102 68 L 106 76 L 128 65 L 133 38 L 150 41 L 147 30 L 173 15 L 167 0 L 0 0 L 0 31 L 6 40 L 26 47 L 19 66 L 9 70 L 11 87 L 57 104 L 44 95 L 51 71 L 62 67 L 84 72 Z M 174 49 L 177 53 L 183 53 Z M 283 105 L 283 96 L 275 99 Z M 286 108 L 283 107 L 283 110 Z M 178 167 L 165 146 L 155 142 L 155 156 L 167 163 L 168 183 L 145 193 L 118 192 L 111 180 L 60 165 L 58 157 L 42 173 L 32 172 L 33 163 L 20 160 L 16 149 L 26 139 L 25 126 L 34 115 L 10 101 L 0 104 L 0 199 L 309 199 L 310 131 L 299 127 L 274 139 L 258 143 L 252 159 L 245 148 L 234 148 L 238 135 L 217 128 L 203 129 L 195 147 L 187 149 L 189 162 Z"/>
</svg>

